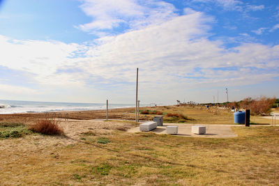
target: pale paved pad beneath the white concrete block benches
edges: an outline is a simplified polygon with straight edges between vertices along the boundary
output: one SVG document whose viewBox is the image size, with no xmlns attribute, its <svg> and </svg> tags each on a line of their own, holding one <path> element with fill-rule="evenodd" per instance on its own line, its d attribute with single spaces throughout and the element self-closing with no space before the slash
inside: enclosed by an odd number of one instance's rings
<svg viewBox="0 0 279 186">
<path fill-rule="evenodd" d="M 230 138 L 237 137 L 237 134 L 234 133 L 232 127 L 243 127 L 243 125 L 204 125 L 206 127 L 206 134 L 199 135 L 193 134 L 191 132 L 193 124 L 184 124 L 184 123 L 167 123 L 168 125 L 179 126 L 179 132 L 176 136 L 179 137 L 205 137 L 205 138 Z M 158 126 L 156 129 L 152 130 L 152 132 L 156 134 L 166 134 L 166 127 Z M 245 127 L 245 126 L 244 126 Z M 140 127 L 134 127 L 128 130 L 128 132 L 140 132 Z"/>
</svg>

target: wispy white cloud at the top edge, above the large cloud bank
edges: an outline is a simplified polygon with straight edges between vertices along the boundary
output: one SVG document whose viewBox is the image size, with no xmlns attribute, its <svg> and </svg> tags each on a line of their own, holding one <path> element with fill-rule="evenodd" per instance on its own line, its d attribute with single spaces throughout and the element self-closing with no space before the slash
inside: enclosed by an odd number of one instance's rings
<svg viewBox="0 0 279 186">
<path fill-rule="evenodd" d="M 82 0 L 80 8 L 93 20 L 77 28 L 99 36 L 105 33 L 103 30 L 113 30 L 119 26 L 139 29 L 149 24 L 160 24 L 176 15 L 171 3 L 156 0 Z"/>
</svg>

